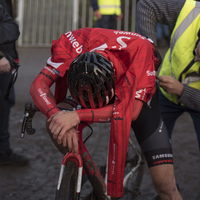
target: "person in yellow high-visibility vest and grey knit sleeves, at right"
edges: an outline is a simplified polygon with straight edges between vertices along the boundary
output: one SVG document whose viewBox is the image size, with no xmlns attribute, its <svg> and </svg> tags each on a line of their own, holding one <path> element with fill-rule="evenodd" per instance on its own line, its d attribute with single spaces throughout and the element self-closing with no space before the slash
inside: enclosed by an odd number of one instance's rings
<svg viewBox="0 0 200 200">
<path fill-rule="evenodd" d="M 140 0 L 136 22 L 137 32 L 151 38 L 155 46 L 156 22 L 169 25 L 170 48 L 158 77 L 162 118 L 171 137 L 177 118 L 188 112 L 200 148 L 200 2 Z"/>
</svg>

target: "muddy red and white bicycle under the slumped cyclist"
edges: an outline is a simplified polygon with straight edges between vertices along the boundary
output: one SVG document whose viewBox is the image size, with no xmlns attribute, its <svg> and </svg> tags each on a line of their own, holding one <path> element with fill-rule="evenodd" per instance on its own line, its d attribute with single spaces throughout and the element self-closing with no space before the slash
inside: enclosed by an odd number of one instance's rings
<svg viewBox="0 0 200 200">
<path fill-rule="evenodd" d="M 32 127 L 32 120 L 37 111 L 39 110 L 34 104 L 30 102 L 25 104 L 21 138 L 25 136 L 25 132 L 29 135 L 35 133 L 35 129 Z M 69 200 L 80 199 L 81 187 L 83 185 L 82 178 L 85 176 L 87 176 L 87 179 L 90 181 L 93 192 L 84 197 L 84 200 L 114 199 L 106 194 L 106 167 L 100 167 L 99 171 L 85 146 L 85 142 L 92 135 L 93 129 L 86 123 L 81 123 L 79 126 L 88 126 L 91 129 L 91 133 L 83 141 L 82 131 L 78 132 L 79 153 L 77 155 L 67 153 L 64 156 L 58 178 L 55 200 L 66 200 L 66 197 L 68 197 L 67 199 Z M 120 199 L 136 199 L 140 194 L 140 185 L 144 174 L 145 162 L 143 155 L 135 146 L 135 140 L 134 134 L 130 134 L 123 181 L 124 196 Z M 134 174 L 135 176 L 133 176 Z"/>
</svg>

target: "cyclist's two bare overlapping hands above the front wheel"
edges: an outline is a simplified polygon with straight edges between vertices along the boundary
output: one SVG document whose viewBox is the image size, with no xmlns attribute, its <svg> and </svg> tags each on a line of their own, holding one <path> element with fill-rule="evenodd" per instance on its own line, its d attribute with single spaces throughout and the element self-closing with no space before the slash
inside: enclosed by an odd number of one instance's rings
<svg viewBox="0 0 200 200">
<path fill-rule="evenodd" d="M 53 134 L 53 138 L 58 144 L 67 146 L 69 151 L 78 153 L 78 138 L 76 126 L 80 123 L 79 116 L 76 111 L 58 111 L 48 120 L 49 129 Z"/>
</svg>

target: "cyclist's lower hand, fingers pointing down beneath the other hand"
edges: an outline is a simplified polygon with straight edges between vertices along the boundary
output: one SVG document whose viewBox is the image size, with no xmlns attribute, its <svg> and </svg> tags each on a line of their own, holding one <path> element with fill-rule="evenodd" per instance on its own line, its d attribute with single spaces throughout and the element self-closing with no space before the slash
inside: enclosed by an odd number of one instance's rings
<svg viewBox="0 0 200 200">
<path fill-rule="evenodd" d="M 63 137 L 58 137 L 58 144 L 61 144 L 64 147 L 68 148 L 69 152 L 74 152 L 74 154 L 78 153 L 78 137 L 76 128 L 72 128 L 67 131 Z"/>
</svg>

